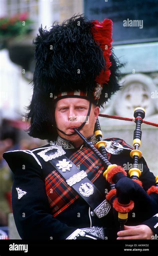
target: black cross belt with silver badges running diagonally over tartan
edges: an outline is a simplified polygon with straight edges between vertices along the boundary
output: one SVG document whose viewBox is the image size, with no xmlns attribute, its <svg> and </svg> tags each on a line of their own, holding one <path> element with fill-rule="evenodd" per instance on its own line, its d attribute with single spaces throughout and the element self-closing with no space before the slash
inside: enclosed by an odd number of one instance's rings
<svg viewBox="0 0 158 256">
<path fill-rule="evenodd" d="M 108 214 L 111 208 L 110 204 L 87 178 L 85 171 L 80 171 L 77 166 L 64 155 L 49 160 L 49 162 L 64 177 L 66 183 L 89 204 L 98 218 L 102 218 Z"/>
</svg>

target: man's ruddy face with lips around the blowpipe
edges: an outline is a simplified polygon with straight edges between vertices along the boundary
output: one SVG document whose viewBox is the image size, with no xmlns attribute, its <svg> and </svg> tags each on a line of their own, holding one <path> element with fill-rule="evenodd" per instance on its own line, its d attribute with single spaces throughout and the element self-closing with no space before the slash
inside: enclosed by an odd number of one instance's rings
<svg viewBox="0 0 158 256">
<path fill-rule="evenodd" d="M 86 116 L 89 109 L 89 101 L 80 98 L 65 98 L 57 102 L 55 108 L 56 126 L 66 134 L 74 133 L 73 128 L 79 127 L 85 120 L 87 121 L 80 132 L 88 138 L 93 135 L 94 124 L 99 115 L 99 107 L 92 104 L 91 112 L 87 120 Z M 57 130 L 58 131 L 58 130 Z M 78 147 L 83 140 L 77 135 L 67 136 L 60 131 L 58 134 L 72 142 Z"/>
</svg>

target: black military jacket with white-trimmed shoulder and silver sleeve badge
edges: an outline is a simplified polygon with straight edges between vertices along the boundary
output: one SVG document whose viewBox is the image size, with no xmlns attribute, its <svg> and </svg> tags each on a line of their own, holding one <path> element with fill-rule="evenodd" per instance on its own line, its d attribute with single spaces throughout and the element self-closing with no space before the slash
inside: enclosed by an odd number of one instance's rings
<svg viewBox="0 0 158 256">
<path fill-rule="evenodd" d="M 94 137 L 89 139 L 94 142 Z M 111 152 L 110 162 L 112 164 L 123 167 L 125 163 L 127 165 L 132 163 L 132 158 L 130 157 L 131 146 L 119 138 L 108 138 L 105 140 L 109 142 L 116 141 L 120 143 L 119 145 L 123 146 L 123 150 L 118 154 L 114 154 L 113 151 Z M 63 147 L 68 158 L 81 148 L 75 148 L 73 143 L 59 136 L 57 144 Z M 96 215 L 92 214 L 92 216 L 90 214 L 92 209 L 90 209 L 82 197 L 79 197 L 69 207 L 65 208 L 56 217 L 53 217 L 45 183 L 53 168 L 49 162 L 45 162 L 37 154 L 48 147 L 50 147 L 50 144 L 30 150 L 8 151 L 3 154 L 4 159 L 14 173 L 12 208 L 20 237 L 22 239 L 67 239 L 72 233 L 75 234 L 76 230 L 88 228 L 91 225 L 91 227 L 103 227 L 106 239 L 116 239 L 119 224 L 114 219 L 112 207 L 107 216 L 99 219 Z M 140 158 L 139 163 L 143 165 L 140 180 L 147 191 L 147 189 L 155 184 L 155 177 L 149 171 L 143 157 Z M 94 185 L 103 196 L 106 195 L 105 191 L 107 189 L 109 191 L 109 184 L 103 175 L 100 175 L 95 180 Z M 49 186 L 51 187 L 51 184 Z M 59 190 L 60 196 L 63 195 L 60 194 Z M 142 214 L 139 214 L 139 210 L 135 209 L 134 213 L 135 217 L 129 218 L 127 225 L 135 226 L 143 223 L 149 226 L 154 234 L 158 233 L 158 214 L 146 219 Z M 79 235 L 78 238 L 85 239 L 84 236 Z"/>
</svg>

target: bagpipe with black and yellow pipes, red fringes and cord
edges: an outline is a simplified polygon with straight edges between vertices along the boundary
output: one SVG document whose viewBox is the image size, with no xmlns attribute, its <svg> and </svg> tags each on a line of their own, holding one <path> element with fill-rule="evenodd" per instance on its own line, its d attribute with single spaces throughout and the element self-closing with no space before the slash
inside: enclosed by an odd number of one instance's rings
<svg viewBox="0 0 158 256">
<path fill-rule="evenodd" d="M 107 115 L 101 114 L 99 116 L 109 117 Z M 134 208 L 134 205 L 137 205 L 137 208 L 140 207 L 141 212 L 144 212 L 144 220 L 152 217 L 158 212 L 158 176 L 156 176 L 156 183 L 153 184 L 153 186 L 151 186 L 147 191 L 144 190 L 143 184 L 139 180 L 141 171 L 138 168 L 138 162 L 139 158 L 142 157 L 142 152 L 139 150 L 142 135 L 141 124 L 146 123 L 158 126 L 157 124 L 144 121 L 144 117 L 145 110 L 140 107 L 134 110 L 134 120 L 111 116 L 111 118 L 129 120 L 136 123 L 133 136 L 134 149 L 130 152 L 130 156 L 133 158 L 133 168 L 129 170 L 130 178 L 127 177 L 126 171 L 121 166 L 111 164 L 108 161 L 106 141 L 102 140 L 103 135 L 98 118 L 94 129 L 95 137 L 97 139 L 95 146 L 92 144 L 92 142 L 88 141 L 76 128 L 74 128 L 75 132 L 85 142 L 85 145 L 97 155 L 105 167 L 103 176 L 110 185 L 110 191 L 106 195 L 106 199 L 111 203 L 111 205 L 113 205 L 114 212 L 118 212 L 120 230 L 124 230 L 124 224 L 128 219 L 128 213 Z"/>
</svg>

